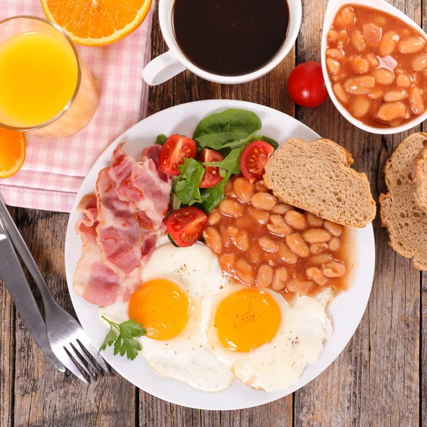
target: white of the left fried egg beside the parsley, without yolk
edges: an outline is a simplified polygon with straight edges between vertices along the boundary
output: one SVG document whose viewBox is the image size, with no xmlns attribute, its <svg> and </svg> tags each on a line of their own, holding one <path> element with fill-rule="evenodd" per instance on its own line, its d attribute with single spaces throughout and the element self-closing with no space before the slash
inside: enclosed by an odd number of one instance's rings
<svg viewBox="0 0 427 427">
<path fill-rule="evenodd" d="M 201 329 L 201 301 L 205 290 L 220 281 L 223 275 L 218 263 L 211 267 L 213 260 L 214 254 L 202 243 L 188 248 L 165 243 L 154 249 L 142 269 L 142 283 L 156 278 L 177 283 L 189 297 L 189 319 L 184 330 L 172 339 L 139 338 L 142 356 L 159 374 L 209 392 L 226 389 L 235 378 L 211 351 Z M 129 319 L 128 307 L 128 302 L 117 302 L 100 308 L 98 312 L 120 323 Z"/>
</svg>

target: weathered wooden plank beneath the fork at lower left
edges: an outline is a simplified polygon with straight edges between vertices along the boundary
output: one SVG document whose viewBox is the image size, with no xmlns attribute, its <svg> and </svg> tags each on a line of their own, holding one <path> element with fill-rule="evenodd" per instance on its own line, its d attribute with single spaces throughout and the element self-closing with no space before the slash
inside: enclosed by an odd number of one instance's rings
<svg viewBox="0 0 427 427">
<path fill-rule="evenodd" d="M 68 215 L 30 209 L 15 209 L 15 212 L 23 238 L 53 296 L 61 307 L 74 314 L 63 259 Z M 40 301 L 38 293 L 34 293 Z M 135 424 L 132 384 L 112 374 L 88 386 L 73 375 L 56 371 L 43 357 L 19 316 L 15 356 L 15 427 L 113 427 L 117 426 L 117 420 L 123 426 Z"/>
</svg>

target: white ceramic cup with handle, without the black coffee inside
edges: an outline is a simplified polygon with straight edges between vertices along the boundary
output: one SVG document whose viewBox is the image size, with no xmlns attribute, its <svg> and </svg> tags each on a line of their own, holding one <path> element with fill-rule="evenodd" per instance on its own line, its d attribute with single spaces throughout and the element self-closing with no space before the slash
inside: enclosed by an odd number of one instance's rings
<svg viewBox="0 0 427 427">
<path fill-rule="evenodd" d="M 201 0 L 206 1 L 206 0 Z M 162 30 L 164 40 L 169 46 L 169 51 L 163 53 L 157 58 L 154 58 L 142 70 L 142 78 L 149 85 L 159 85 L 174 77 L 174 75 L 182 73 L 187 68 L 199 77 L 215 83 L 223 83 L 232 85 L 235 83 L 245 83 L 261 75 L 267 74 L 273 70 L 284 58 L 288 55 L 300 31 L 302 7 L 301 0 L 288 0 L 289 5 L 289 29 L 288 36 L 286 36 L 285 43 L 280 48 L 280 51 L 266 63 L 259 70 L 255 70 L 248 74 L 243 75 L 218 75 L 209 73 L 202 70 L 197 65 L 194 65 L 184 53 L 179 49 L 176 43 L 174 30 L 172 28 L 172 11 L 174 9 L 174 0 L 160 0 L 159 1 L 159 23 Z M 268 31 L 268 28 L 265 28 Z"/>
</svg>

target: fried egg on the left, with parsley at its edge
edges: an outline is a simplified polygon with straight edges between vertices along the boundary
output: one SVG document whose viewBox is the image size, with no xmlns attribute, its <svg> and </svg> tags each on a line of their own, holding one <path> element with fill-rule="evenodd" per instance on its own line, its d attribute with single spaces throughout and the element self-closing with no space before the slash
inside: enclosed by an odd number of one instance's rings
<svg viewBox="0 0 427 427">
<path fill-rule="evenodd" d="M 142 285 L 127 303 L 99 310 L 114 322 L 135 319 L 147 334 L 139 338 L 141 354 L 162 376 L 204 391 L 226 389 L 234 379 L 211 351 L 201 329 L 201 301 L 206 288 L 222 280 L 214 254 L 202 243 L 154 249 L 142 269 Z"/>
</svg>

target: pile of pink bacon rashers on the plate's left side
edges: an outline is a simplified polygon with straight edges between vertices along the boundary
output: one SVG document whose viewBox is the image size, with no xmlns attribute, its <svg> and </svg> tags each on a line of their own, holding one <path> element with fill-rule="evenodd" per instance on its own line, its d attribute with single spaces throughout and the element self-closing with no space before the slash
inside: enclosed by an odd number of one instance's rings
<svg viewBox="0 0 427 427">
<path fill-rule="evenodd" d="M 112 165 L 98 175 L 96 194 L 83 197 L 78 206 L 84 217 L 75 230 L 83 241 L 83 257 L 73 288 L 93 304 L 130 298 L 164 231 L 172 184 L 159 169 L 159 151 L 148 147 L 137 162 L 120 144 Z"/>
</svg>

